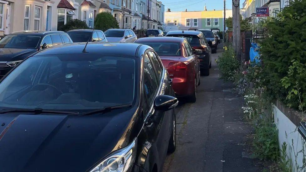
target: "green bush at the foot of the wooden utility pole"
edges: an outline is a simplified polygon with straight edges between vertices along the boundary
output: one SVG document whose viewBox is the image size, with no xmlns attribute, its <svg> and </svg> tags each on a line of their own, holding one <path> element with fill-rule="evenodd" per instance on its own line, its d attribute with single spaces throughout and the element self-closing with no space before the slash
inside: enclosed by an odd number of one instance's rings
<svg viewBox="0 0 306 172">
<path fill-rule="evenodd" d="M 233 48 L 225 47 L 225 51 L 216 60 L 219 65 L 221 78 L 226 81 L 235 81 L 235 74 L 239 71 L 240 63 Z"/>
</svg>

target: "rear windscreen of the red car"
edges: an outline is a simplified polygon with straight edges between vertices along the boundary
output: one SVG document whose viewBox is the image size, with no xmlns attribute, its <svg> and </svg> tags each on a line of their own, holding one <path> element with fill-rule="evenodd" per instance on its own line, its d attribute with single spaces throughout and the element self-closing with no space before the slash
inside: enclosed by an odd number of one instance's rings
<svg viewBox="0 0 306 172">
<path fill-rule="evenodd" d="M 149 45 L 160 56 L 181 56 L 181 46 L 179 43 L 169 42 L 139 42 Z"/>
</svg>

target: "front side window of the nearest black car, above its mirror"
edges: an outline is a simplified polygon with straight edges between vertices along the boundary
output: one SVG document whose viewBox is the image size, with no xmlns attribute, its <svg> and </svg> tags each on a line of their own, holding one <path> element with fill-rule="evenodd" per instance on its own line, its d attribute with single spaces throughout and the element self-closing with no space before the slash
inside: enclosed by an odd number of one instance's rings
<svg viewBox="0 0 306 172">
<path fill-rule="evenodd" d="M 157 91 L 158 84 L 153 64 L 149 58 L 148 54 L 144 57 L 144 91 L 145 96 L 148 99 L 148 104 L 154 99 L 155 93 Z"/>
</svg>

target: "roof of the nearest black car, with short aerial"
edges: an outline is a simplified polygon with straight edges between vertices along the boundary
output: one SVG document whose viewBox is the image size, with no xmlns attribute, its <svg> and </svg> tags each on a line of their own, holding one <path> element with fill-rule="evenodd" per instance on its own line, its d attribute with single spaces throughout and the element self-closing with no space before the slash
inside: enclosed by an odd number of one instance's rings
<svg viewBox="0 0 306 172">
<path fill-rule="evenodd" d="M 37 55 L 55 55 L 55 54 L 79 54 L 83 53 L 86 42 L 61 44 L 39 51 Z M 86 47 L 87 53 L 128 55 L 135 56 L 137 48 L 141 44 L 135 43 L 107 43 L 107 42 L 89 42 Z"/>
</svg>

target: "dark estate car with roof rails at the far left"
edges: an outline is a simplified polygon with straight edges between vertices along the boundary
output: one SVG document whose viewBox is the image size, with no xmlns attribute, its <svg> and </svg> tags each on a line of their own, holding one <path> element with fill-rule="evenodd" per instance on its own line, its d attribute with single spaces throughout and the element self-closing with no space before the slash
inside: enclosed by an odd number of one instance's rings
<svg viewBox="0 0 306 172">
<path fill-rule="evenodd" d="M 61 31 L 18 31 L 0 40 L 0 77 L 38 50 L 54 45 L 72 43 Z"/>
</svg>

